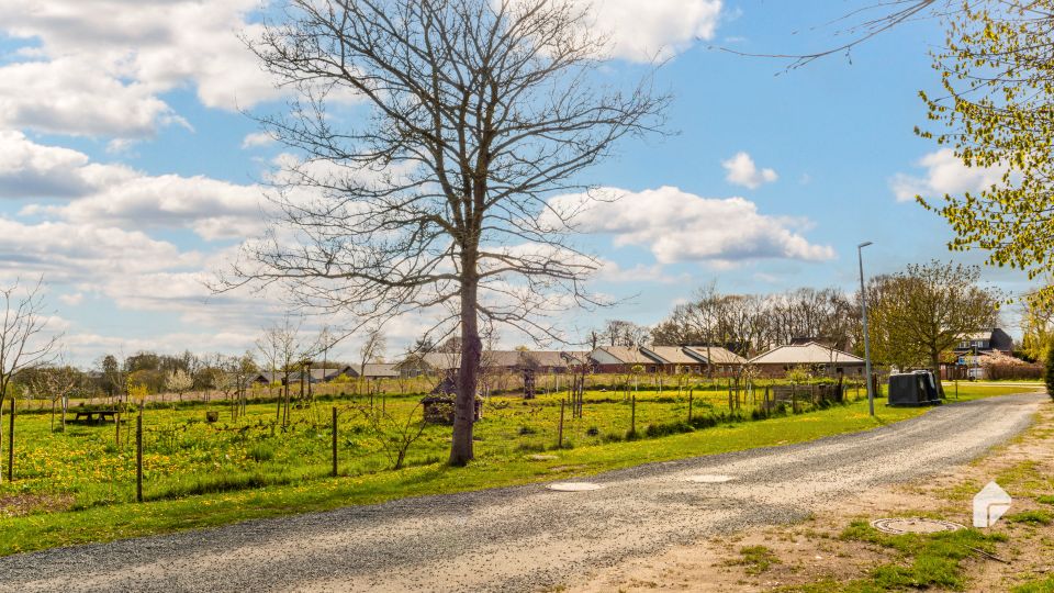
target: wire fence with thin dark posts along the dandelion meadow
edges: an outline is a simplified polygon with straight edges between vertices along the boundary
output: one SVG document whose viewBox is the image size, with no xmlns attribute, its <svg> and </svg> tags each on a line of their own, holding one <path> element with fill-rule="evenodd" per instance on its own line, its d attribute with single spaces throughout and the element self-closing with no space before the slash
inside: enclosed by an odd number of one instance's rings
<svg viewBox="0 0 1054 593">
<path fill-rule="evenodd" d="M 644 385 L 646 388 L 648 385 Z M 800 414 L 865 396 L 862 384 L 754 382 L 641 389 L 617 384 L 532 400 L 492 395 L 474 426 L 481 459 L 522 459 L 547 451 L 658 438 L 727 422 Z M 78 505 L 170 500 L 322 479 L 363 475 L 445 459 L 450 428 L 425 424 L 421 396 L 373 393 L 234 405 L 155 403 L 122 407 L 104 423 L 69 422 L 52 432 L 46 414 L 8 414 L 5 477 L 0 494 L 72 495 Z M 215 402 L 212 402 L 215 404 Z M 142 423 L 142 424 L 139 424 Z M 12 445 L 13 436 L 13 447 Z M 335 469 L 336 468 L 336 469 Z M 0 510 L 2 511 L 2 510 Z"/>
</svg>

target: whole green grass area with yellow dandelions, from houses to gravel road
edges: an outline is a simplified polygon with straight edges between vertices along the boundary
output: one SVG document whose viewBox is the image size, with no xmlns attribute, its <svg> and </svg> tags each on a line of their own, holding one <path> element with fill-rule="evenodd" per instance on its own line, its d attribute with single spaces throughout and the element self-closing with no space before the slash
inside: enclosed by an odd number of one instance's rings
<svg viewBox="0 0 1054 593">
<path fill-rule="evenodd" d="M 1020 391 L 961 384 L 960 396 Z M 383 409 L 402 423 L 418 398 L 378 399 L 373 411 Z M 26 414 L 16 425 L 15 481 L 0 485 L 0 513 L 5 516 L 0 518 L 0 555 L 786 445 L 924 412 L 887 409 L 879 400 L 876 418 L 871 418 L 866 402 L 856 401 L 747 422 L 750 400 L 730 417 L 727 392 L 696 391 L 693 426 L 686 423 L 686 393 L 640 391 L 636 402 L 633 406 L 623 392 L 587 392 L 583 418 L 572 418 L 565 411 L 564 446 L 558 448 L 559 395 L 531 401 L 494 396 L 476 425 L 478 460 L 469 468 L 441 462 L 450 428 L 428 426 L 411 447 L 407 467 L 399 471 L 390 469 L 389 455 L 397 430 L 369 422 L 365 400 L 316 402 L 293 410 L 285 432 L 274 424 L 274 403 L 253 404 L 238 421 L 227 419 L 222 405 L 148 409 L 144 504 L 134 502 L 133 423 L 123 424 L 119 445 L 113 424 L 69 425 L 65 433 L 53 433 L 46 414 Z M 337 478 L 328 477 L 332 406 L 339 412 Z M 221 419 L 203 422 L 206 410 L 220 411 Z M 628 438 L 633 416 L 637 430 Z M 532 458 L 540 451 L 556 458 Z"/>
</svg>

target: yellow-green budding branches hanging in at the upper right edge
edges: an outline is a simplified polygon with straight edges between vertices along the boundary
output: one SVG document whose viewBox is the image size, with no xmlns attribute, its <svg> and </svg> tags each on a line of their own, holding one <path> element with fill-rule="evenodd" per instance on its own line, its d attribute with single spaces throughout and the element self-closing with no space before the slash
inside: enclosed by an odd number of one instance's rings
<svg viewBox="0 0 1054 593">
<path fill-rule="evenodd" d="M 976 192 L 918 200 L 951 224 L 952 249 L 986 249 L 988 264 L 1034 278 L 1054 267 L 1054 2 L 961 7 L 934 55 L 944 93 L 922 93 L 935 127 L 918 133 L 1002 176 Z M 1039 296 L 1054 299 L 1054 288 Z"/>
</svg>

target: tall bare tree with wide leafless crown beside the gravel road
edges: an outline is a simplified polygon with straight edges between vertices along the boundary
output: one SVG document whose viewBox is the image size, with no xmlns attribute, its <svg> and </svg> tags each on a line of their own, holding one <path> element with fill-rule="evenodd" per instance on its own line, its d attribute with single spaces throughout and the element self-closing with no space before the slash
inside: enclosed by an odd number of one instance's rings
<svg viewBox="0 0 1054 593">
<path fill-rule="evenodd" d="M 289 0 L 281 23 L 248 42 L 299 92 L 261 123 L 306 158 L 282 175 L 280 222 L 220 289 L 278 283 L 299 305 L 361 325 L 441 313 L 462 343 L 452 465 L 473 458 L 481 317 L 561 339 L 551 313 L 598 303 L 582 286 L 596 260 L 568 240 L 595 194 L 551 198 L 585 189 L 578 174 L 624 136 L 658 130 L 669 102 L 650 79 L 597 86 L 607 44 L 587 10 Z M 330 113 L 351 96 L 370 110 L 359 125 Z"/>
</svg>

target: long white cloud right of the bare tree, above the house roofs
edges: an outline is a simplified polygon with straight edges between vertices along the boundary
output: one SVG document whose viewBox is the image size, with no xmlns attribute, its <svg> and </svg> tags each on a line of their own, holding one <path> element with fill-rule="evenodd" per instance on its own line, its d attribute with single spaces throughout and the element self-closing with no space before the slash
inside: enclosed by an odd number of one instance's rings
<svg viewBox="0 0 1054 593">
<path fill-rule="evenodd" d="M 752 259 L 834 257 L 831 247 L 814 245 L 801 236 L 800 231 L 809 226 L 807 221 L 766 216 L 743 198 L 700 198 L 672 187 L 640 192 L 604 188 L 598 193 L 618 200 L 590 203 L 586 195 L 568 194 L 550 204 L 560 212 L 587 204 L 574 217 L 580 231 L 614 235 L 616 246 L 646 247 L 660 264 L 731 266 Z M 554 224 L 549 217 L 543 222 Z"/>
</svg>

